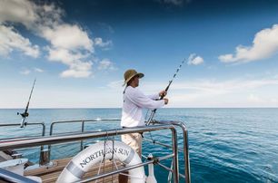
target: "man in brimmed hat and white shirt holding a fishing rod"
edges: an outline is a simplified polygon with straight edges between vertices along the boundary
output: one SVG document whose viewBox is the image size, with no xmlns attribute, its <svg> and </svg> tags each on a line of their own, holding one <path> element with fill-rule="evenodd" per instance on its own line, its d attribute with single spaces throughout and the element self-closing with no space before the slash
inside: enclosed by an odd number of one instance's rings
<svg viewBox="0 0 278 183">
<path fill-rule="evenodd" d="M 121 126 L 123 128 L 143 127 L 144 116 L 143 109 L 154 110 L 162 108 L 168 103 L 168 99 L 160 100 L 160 96 L 165 96 L 167 92 L 162 91 L 157 94 L 146 96 L 138 90 L 139 79 L 143 78 L 144 74 L 136 72 L 134 69 L 124 72 L 124 104 L 122 111 Z M 132 147 L 138 155 L 142 155 L 142 135 L 140 133 L 130 133 L 122 135 L 122 141 Z M 121 179 L 123 178 L 123 179 Z M 119 176 L 119 182 L 127 182 L 127 177 Z"/>
</svg>

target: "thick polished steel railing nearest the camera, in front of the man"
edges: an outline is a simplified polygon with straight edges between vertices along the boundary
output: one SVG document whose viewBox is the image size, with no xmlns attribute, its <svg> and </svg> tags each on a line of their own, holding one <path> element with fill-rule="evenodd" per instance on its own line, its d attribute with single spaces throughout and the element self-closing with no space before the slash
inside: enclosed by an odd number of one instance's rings
<svg viewBox="0 0 278 183">
<path fill-rule="evenodd" d="M 173 172 L 174 172 L 174 182 L 179 182 L 179 171 L 178 171 L 178 151 L 177 151 L 177 132 L 173 125 L 154 125 L 147 126 L 142 128 L 130 128 L 130 129 L 119 129 L 119 130 L 106 130 L 106 131 L 94 131 L 94 132 L 84 132 L 80 134 L 70 134 L 70 135 L 60 135 L 60 136 L 51 136 L 51 137 L 42 137 L 42 138 L 26 138 L 24 140 L 14 139 L 14 140 L 5 140 L 0 143 L 0 150 L 3 149 L 20 149 L 27 147 L 35 147 L 42 146 L 47 144 L 58 144 L 65 143 L 76 140 L 87 140 L 92 138 L 101 138 L 101 137 L 109 137 L 114 135 L 123 135 L 126 133 L 134 133 L 134 132 L 144 132 L 144 131 L 154 131 L 154 130 L 171 130 L 172 132 L 172 150 L 173 154 L 170 156 L 163 157 L 161 159 L 172 158 L 173 159 Z M 135 165 L 134 167 L 119 169 L 114 172 L 105 173 L 102 175 L 98 175 L 97 178 L 104 178 L 109 175 L 113 175 L 119 172 L 122 172 L 127 169 L 134 169 L 136 167 L 144 166 L 146 164 L 153 163 L 153 161 L 148 161 L 144 163 L 140 163 Z M 83 180 L 82 182 L 91 181 L 94 178 L 88 178 Z"/>
</svg>

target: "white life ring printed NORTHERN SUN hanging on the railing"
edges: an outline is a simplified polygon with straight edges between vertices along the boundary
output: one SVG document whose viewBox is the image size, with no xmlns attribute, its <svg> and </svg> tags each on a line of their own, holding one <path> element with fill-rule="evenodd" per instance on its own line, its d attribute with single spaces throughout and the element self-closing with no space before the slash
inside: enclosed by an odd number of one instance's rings
<svg viewBox="0 0 278 183">
<path fill-rule="evenodd" d="M 113 142 L 112 140 L 100 141 L 74 156 L 74 158 L 66 165 L 65 169 L 63 169 L 56 182 L 70 183 L 79 181 L 89 169 L 94 167 L 94 165 L 98 165 L 103 159 L 113 158 L 123 162 L 126 167 L 142 162 L 134 149 L 126 145 L 124 142 Z M 130 169 L 128 172 L 132 183 L 145 182 L 143 166 L 136 169 Z"/>
</svg>

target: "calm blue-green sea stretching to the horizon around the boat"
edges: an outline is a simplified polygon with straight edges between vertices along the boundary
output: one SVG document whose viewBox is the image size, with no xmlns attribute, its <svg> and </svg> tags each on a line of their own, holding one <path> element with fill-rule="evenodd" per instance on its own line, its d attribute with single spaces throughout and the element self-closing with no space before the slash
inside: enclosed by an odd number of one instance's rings
<svg viewBox="0 0 278 183">
<path fill-rule="evenodd" d="M 0 110 L 0 122 L 19 123 L 17 111 Z M 120 109 L 30 110 L 29 121 L 44 121 L 48 134 L 51 121 L 120 116 Z M 156 120 L 181 120 L 186 124 L 192 182 L 278 182 L 278 109 L 162 109 L 157 112 Z M 114 128 L 119 128 L 119 123 L 107 121 L 85 127 L 86 130 Z M 55 132 L 73 130 L 80 130 L 80 125 L 60 126 Z M 40 129 L 32 126 L 0 129 L 0 139 L 15 137 L 15 134 L 38 135 Z M 171 137 L 168 131 L 152 132 L 152 136 L 165 143 Z M 150 135 L 146 133 L 145 137 L 149 139 Z M 79 147 L 79 144 L 56 145 L 51 158 L 74 156 Z M 28 159 L 37 161 L 38 149 L 21 151 Z M 144 155 L 149 152 L 162 156 L 169 150 L 145 142 Z M 180 154 L 179 159 L 182 157 Z M 164 164 L 170 166 L 170 161 Z M 155 177 L 158 182 L 165 182 L 167 172 L 155 168 Z"/>
</svg>

